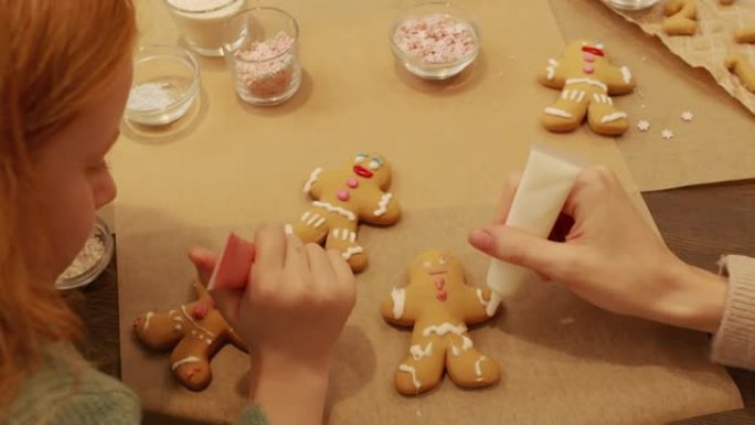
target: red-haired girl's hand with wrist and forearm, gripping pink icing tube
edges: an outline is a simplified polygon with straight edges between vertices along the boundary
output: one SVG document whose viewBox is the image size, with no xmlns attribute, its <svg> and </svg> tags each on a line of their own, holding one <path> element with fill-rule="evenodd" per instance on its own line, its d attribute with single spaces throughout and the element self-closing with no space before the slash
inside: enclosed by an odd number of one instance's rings
<svg viewBox="0 0 755 425">
<path fill-rule="evenodd" d="M 249 399 L 270 423 L 320 424 L 330 354 L 355 301 L 354 276 L 340 253 L 305 245 L 279 225 L 259 227 L 254 247 L 246 287 L 211 291 L 249 349 Z M 214 255 L 193 249 L 190 257 L 208 281 Z"/>
</svg>

